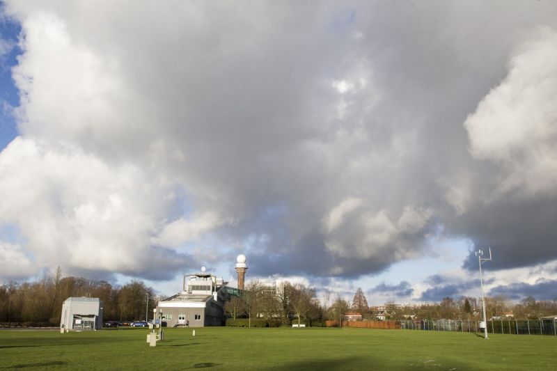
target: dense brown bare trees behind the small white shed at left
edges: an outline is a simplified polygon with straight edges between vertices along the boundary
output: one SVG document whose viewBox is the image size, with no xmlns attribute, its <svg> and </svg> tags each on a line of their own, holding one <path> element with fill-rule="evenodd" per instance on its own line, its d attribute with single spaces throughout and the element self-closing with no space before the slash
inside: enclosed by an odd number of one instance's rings
<svg viewBox="0 0 557 371">
<path fill-rule="evenodd" d="M 155 291 L 141 281 L 111 285 L 107 281 L 62 277 L 58 268 L 35 282 L 9 281 L 1 285 L 0 323 L 58 326 L 62 303 L 68 297 L 99 298 L 103 301 L 104 319 L 120 321 L 145 319 L 146 311 L 152 315 L 159 300 Z"/>
</svg>

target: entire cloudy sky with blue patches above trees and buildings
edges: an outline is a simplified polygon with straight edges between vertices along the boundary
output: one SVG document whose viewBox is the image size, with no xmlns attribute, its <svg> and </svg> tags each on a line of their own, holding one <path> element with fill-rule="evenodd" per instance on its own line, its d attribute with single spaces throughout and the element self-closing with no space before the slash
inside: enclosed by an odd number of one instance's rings
<svg viewBox="0 0 557 371">
<path fill-rule="evenodd" d="M 557 299 L 553 1 L 0 12 L 0 282 Z"/>
</svg>

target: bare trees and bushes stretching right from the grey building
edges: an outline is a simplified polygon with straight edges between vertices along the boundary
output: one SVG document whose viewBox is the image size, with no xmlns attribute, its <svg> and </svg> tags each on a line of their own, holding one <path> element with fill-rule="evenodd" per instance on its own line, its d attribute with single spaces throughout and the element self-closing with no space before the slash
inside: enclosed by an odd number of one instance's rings
<svg viewBox="0 0 557 371">
<path fill-rule="evenodd" d="M 321 324 L 326 320 L 342 323 L 347 313 L 359 314 L 363 320 L 377 320 L 379 314 L 384 319 L 400 321 L 404 319 L 481 319 L 481 299 L 445 297 L 439 303 L 424 306 L 400 306 L 390 301 L 381 312 L 377 306 L 369 306 L 363 290 L 358 287 L 352 303 L 340 295 L 329 306 L 330 293 L 324 292 L 321 300 L 316 297 L 316 290 L 299 283 L 284 283 L 281 289 L 265 286 L 254 280 L 246 285 L 242 296 L 228 301 L 225 310 L 233 320 L 246 318 L 248 326 L 251 319 L 278 321 L 281 324 L 306 325 Z M 557 299 L 554 301 L 526 297 L 519 303 L 512 303 L 504 296 L 486 297 L 487 319 L 505 318 L 537 319 L 548 315 L 557 315 Z"/>
</svg>

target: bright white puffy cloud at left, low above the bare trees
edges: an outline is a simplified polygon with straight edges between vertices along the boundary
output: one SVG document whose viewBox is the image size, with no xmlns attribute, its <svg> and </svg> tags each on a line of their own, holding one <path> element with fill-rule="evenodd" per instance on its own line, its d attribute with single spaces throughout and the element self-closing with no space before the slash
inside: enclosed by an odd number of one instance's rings
<svg viewBox="0 0 557 371">
<path fill-rule="evenodd" d="M 172 202 L 150 176 L 18 137 L 0 153 L 0 223 L 18 226 L 38 268 L 150 271 L 149 237 L 166 227 Z"/>
</svg>

